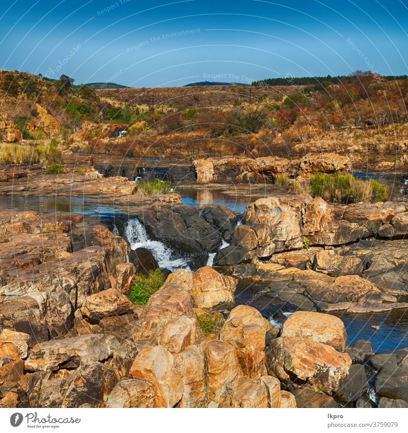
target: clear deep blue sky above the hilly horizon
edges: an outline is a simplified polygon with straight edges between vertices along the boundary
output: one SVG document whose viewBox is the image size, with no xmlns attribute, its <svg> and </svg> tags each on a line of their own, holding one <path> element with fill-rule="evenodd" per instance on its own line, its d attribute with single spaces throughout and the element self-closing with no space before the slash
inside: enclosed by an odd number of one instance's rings
<svg viewBox="0 0 408 433">
<path fill-rule="evenodd" d="M 75 84 L 408 73 L 406 0 L 3 0 L 0 65 Z"/>
</svg>

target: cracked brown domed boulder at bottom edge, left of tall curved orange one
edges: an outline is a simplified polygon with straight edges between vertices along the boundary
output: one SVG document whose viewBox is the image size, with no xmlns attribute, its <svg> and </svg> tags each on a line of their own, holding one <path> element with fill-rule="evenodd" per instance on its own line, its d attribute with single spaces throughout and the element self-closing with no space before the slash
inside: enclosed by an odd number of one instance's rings
<svg viewBox="0 0 408 433">
<path fill-rule="evenodd" d="M 106 407 L 154 407 L 155 390 L 138 379 L 118 382 L 106 401 Z"/>
</svg>

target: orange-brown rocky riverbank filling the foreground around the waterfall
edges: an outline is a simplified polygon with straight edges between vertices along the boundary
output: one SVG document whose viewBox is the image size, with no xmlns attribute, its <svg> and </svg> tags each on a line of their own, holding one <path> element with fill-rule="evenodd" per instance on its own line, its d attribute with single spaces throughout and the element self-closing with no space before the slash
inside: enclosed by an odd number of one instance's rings
<svg viewBox="0 0 408 433">
<path fill-rule="evenodd" d="M 241 219 L 176 193 L 140 196 L 92 169 L 3 177 L 6 196 L 96 205 L 0 212 L 0 407 L 407 406 L 407 349 L 350 346 L 328 314 L 408 308 L 406 201 L 345 206 L 274 190 Z M 114 217 L 101 221 L 100 203 Z M 164 269 L 157 247 L 187 259 Z M 133 304 L 135 275 L 158 266 L 164 284 Z M 297 311 L 276 327 L 251 301 L 236 305 L 238 282 L 262 282 Z"/>
</svg>

